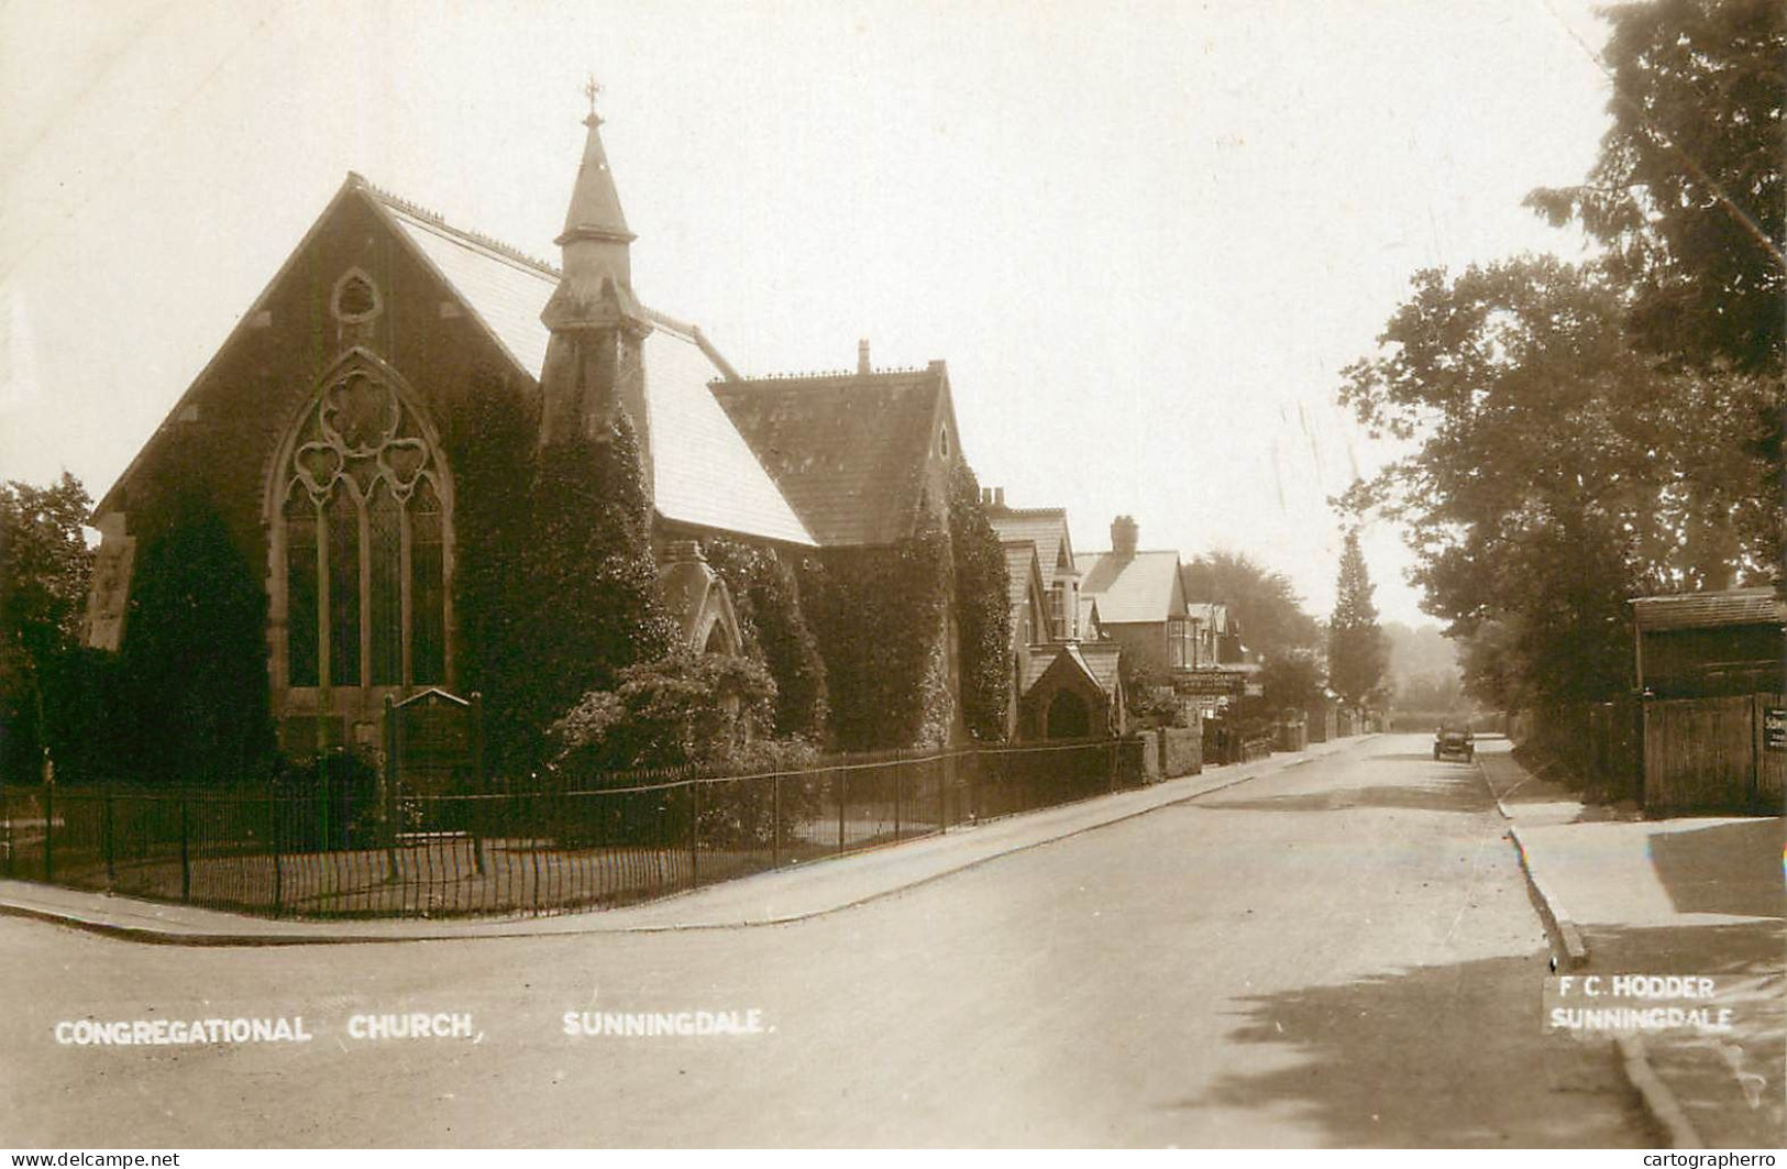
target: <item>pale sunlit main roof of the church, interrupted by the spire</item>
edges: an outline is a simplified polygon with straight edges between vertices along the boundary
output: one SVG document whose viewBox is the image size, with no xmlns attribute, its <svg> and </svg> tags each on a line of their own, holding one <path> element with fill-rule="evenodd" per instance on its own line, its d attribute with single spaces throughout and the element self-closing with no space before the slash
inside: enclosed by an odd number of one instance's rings
<svg viewBox="0 0 1787 1169">
<path fill-rule="evenodd" d="M 365 193 L 465 300 L 504 352 L 534 381 L 550 331 L 540 313 L 558 288 L 550 265 L 495 240 L 449 227 L 386 195 Z M 650 411 L 652 504 L 667 520 L 811 545 L 756 454 L 715 404 L 708 383 L 731 374 L 699 329 L 645 309 L 645 406 Z"/>
</svg>

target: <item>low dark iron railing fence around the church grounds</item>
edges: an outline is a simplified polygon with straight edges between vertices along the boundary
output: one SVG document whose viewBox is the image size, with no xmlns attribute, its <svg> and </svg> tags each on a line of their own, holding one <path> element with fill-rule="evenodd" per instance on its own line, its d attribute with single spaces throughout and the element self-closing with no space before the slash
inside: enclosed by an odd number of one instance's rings
<svg viewBox="0 0 1787 1169">
<path fill-rule="evenodd" d="M 0 788 L 7 878 L 289 917 L 617 906 L 1131 786 L 1119 740 L 490 792 Z"/>
</svg>

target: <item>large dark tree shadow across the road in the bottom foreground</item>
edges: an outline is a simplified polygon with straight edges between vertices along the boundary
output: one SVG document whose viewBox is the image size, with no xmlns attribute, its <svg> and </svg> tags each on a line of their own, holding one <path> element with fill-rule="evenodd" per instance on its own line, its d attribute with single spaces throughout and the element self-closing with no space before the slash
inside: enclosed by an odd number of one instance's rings
<svg viewBox="0 0 1787 1169">
<path fill-rule="evenodd" d="M 1238 999 L 1233 1042 L 1301 1058 L 1224 1074 L 1172 1106 L 1290 1105 L 1344 1148 L 1655 1142 L 1607 1042 L 1540 1031 L 1548 958 L 1540 949 Z"/>
</svg>

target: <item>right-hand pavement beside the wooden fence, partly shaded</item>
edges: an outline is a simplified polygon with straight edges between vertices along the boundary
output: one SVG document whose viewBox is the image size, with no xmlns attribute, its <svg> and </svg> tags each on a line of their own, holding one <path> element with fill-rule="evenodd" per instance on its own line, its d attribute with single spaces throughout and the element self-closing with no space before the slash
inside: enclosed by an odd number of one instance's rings
<svg viewBox="0 0 1787 1169">
<path fill-rule="evenodd" d="M 1716 976 L 1735 1028 L 1623 1039 L 1621 1056 L 1678 1148 L 1787 1139 L 1787 890 L 1780 817 L 1646 820 L 1528 772 L 1506 742 L 1478 761 L 1553 931 L 1560 972 Z"/>
</svg>

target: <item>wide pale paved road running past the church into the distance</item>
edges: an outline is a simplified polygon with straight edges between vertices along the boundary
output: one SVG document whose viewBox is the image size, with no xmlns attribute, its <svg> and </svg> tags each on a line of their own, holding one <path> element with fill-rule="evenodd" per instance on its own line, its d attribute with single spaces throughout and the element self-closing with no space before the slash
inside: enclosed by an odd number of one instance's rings
<svg viewBox="0 0 1787 1169">
<path fill-rule="evenodd" d="M 1540 1031 L 1546 972 L 1478 772 L 1385 736 L 786 926 L 186 949 L 0 921 L 0 1144 L 1653 1144 L 1607 1047 Z M 347 1035 L 411 1010 L 477 1035 Z M 765 1033 L 566 1037 L 579 1010 Z M 315 1040 L 54 1040 L 238 1015 Z"/>
</svg>

